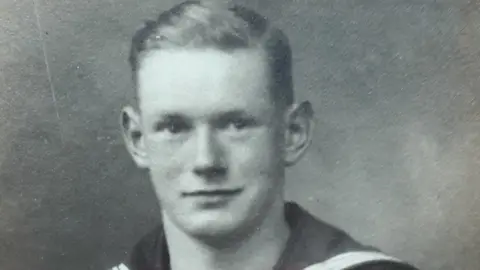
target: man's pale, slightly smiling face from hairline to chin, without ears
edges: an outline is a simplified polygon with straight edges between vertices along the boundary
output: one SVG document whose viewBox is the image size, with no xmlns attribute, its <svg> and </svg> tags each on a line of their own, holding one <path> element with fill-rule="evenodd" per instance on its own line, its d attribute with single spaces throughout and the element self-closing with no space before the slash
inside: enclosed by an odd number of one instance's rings
<svg viewBox="0 0 480 270">
<path fill-rule="evenodd" d="M 283 114 L 262 51 L 156 51 L 138 74 L 141 129 L 162 209 L 191 235 L 225 235 L 283 192 Z"/>
</svg>

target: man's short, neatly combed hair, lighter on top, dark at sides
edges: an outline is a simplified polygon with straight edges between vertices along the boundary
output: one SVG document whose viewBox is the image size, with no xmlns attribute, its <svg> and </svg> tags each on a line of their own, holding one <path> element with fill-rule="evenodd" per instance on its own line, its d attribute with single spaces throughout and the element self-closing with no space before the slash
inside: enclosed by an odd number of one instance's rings
<svg viewBox="0 0 480 270">
<path fill-rule="evenodd" d="M 293 103 L 292 53 L 285 33 L 246 7 L 212 1 L 186 1 L 148 20 L 132 38 L 129 62 L 137 86 L 142 58 L 150 51 L 261 48 L 270 68 L 274 102 Z"/>
</svg>

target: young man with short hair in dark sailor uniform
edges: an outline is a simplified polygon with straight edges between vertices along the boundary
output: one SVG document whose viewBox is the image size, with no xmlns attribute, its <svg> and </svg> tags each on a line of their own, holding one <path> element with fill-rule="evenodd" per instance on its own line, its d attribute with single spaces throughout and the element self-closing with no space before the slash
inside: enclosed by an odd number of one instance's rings
<svg viewBox="0 0 480 270">
<path fill-rule="evenodd" d="M 127 149 L 149 170 L 162 224 L 113 269 L 414 269 L 283 198 L 310 144 L 282 31 L 236 5 L 187 1 L 132 40 Z"/>
</svg>

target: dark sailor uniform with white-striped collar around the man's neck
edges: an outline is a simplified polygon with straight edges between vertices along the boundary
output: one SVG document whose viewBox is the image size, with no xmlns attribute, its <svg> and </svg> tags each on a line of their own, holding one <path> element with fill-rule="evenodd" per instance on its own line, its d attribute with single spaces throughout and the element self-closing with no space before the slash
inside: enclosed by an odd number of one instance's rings
<svg viewBox="0 0 480 270">
<path fill-rule="evenodd" d="M 361 245 L 296 203 L 285 204 L 285 217 L 291 234 L 273 270 L 418 270 Z M 130 259 L 112 270 L 170 270 L 162 226 L 143 237 Z"/>
</svg>

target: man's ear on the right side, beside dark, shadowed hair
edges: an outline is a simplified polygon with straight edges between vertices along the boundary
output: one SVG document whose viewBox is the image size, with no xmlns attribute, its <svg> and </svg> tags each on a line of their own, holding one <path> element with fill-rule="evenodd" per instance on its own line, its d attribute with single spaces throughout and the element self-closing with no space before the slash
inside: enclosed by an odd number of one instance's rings
<svg viewBox="0 0 480 270">
<path fill-rule="evenodd" d="M 308 101 L 293 104 L 285 115 L 284 162 L 294 165 L 305 154 L 312 141 L 313 109 Z"/>
</svg>

